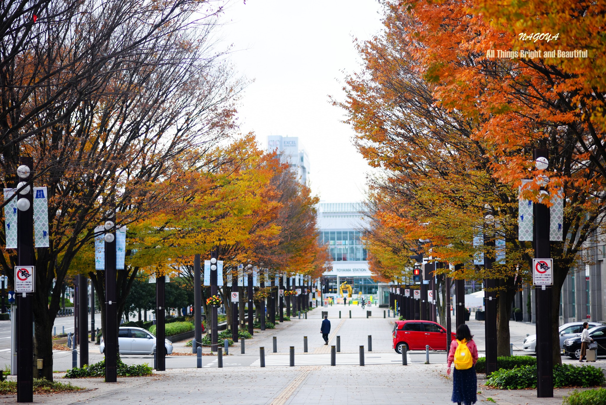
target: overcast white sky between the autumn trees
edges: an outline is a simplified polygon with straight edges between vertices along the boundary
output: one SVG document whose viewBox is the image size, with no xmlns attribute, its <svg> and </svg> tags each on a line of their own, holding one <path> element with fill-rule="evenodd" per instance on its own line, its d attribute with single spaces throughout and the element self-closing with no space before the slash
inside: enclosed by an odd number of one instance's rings
<svg viewBox="0 0 606 405">
<path fill-rule="evenodd" d="M 327 202 L 364 199 L 370 167 L 328 96 L 343 98 L 344 72 L 359 70 L 352 40 L 379 32 L 380 10 L 376 0 L 234 0 L 225 12 L 231 60 L 255 80 L 239 107 L 242 132 L 255 131 L 264 148 L 267 135 L 299 137 L 311 188 Z"/>
</svg>

